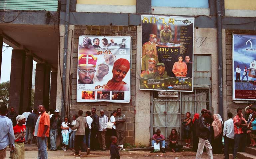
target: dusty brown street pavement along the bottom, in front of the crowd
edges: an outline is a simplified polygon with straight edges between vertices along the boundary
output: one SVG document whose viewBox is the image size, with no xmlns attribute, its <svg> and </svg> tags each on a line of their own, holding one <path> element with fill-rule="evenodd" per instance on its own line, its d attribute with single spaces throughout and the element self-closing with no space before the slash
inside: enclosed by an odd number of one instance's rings
<svg viewBox="0 0 256 159">
<path fill-rule="evenodd" d="M 10 151 L 6 152 L 6 159 L 9 158 Z M 37 151 L 25 151 L 25 159 L 36 159 L 37 158 Z M 110 159 L 110 152 L 107 151 L 91 151 L 89 155 L 86 155 L 86 153 L 80 153 L 82 156 L 73 156 L 71 151 L 48 151 L 48 159 Z M 182 151 L 182 152 L 170 152 L 167 151 L 166 154 L 163 153 L 150 153 L 149 151 L 120 151 L 121 159 L 161 159 L 161 158 L 168 158 L 168 159 L 194 159 L 196 155 L 196 152 L 192 151 Z M 224 154 L 214 154 L 214 159 L 223 159 Z M 233 158 L 232 155 L 229 156 L 230 158 Z M 206 153 L 203 154 L 203 159 L 208 159 Z"/>
</svg>

